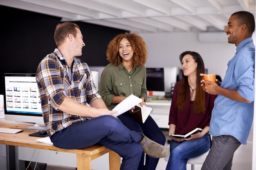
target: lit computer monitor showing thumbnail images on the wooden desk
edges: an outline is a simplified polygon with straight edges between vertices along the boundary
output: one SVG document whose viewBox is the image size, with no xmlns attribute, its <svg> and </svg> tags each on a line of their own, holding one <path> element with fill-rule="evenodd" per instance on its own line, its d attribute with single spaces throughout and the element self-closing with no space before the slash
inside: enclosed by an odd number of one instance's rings
<svg viewBox="0 0 256 170">
<path fill-rule="evenodd" d="M 4 73 L 4 118 L 34 123 L 27 130 L 45 129 L 36 74 Z"/>
</svg>

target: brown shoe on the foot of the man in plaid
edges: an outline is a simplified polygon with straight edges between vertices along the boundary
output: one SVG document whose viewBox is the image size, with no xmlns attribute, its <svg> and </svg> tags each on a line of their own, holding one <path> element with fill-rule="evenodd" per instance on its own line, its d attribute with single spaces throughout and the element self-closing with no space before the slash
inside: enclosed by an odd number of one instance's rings
<svg viewBox="0 0 256 170">
<path fill-rule="evenodd" d="M 143 135 L 142 133 L 140 134 Z M 163 158 L 169 155 L 170 151 L 168 148 L 160 144 L 157 144 L 156 142 L 149 139 L 145 135 L 143 136 L 144 138 L 142 139 L 141 142 L 139 142 L 139 144 L 141 144 L 144 153 L 146 153 L 150 157 L 155 157 L 155 158 Z"/>
</svg>

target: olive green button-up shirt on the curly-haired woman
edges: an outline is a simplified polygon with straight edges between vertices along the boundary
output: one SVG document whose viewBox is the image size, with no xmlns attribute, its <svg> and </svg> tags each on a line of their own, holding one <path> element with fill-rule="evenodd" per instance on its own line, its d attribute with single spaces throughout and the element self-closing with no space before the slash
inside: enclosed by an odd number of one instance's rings
<svg viewBox="0 0 256 170">
<path fill-rule="evenodd" d="M 123 63 L 108 64 L 101 73 L 100 95 L 108 109 L 112 110 L 116 104 L 111 104 L 114 96 L 143 96 L 147 100 L 146 68 L 134 67 L 130 72 Z"/>
</svg>

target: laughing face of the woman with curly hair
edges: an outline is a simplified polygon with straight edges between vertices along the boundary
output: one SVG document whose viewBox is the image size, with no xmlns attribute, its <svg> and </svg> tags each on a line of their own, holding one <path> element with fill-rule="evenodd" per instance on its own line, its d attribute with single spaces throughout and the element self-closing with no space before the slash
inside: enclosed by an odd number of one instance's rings
<svg viewBox="0 0 256 170">
<path fill-rule="evenodd" d="M 126 38 L 121 39 L 119 43 L 119 55 L 122 58 L 122 62 L 132 61 L 133 50 Z"/>
</svg>

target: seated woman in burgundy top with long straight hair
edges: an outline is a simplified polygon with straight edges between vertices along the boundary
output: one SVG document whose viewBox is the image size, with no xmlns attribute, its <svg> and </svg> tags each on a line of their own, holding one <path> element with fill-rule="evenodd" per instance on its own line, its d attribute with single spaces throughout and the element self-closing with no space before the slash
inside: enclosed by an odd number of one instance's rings
<svg viewBox="0 0 256 170">
<path fill-rule="evenodd" d="M 204 61 L 197 52 L 180 54 L 182 81 L 174 86 L 169 113 L 169 135 L 185 135 L 195 128 L 202 131 L 189 138 L 170 136 L 170 158 L 166 170 L 186 170 L 189 158 L 206 153 L 211 144 L 208 134 L 211 111 L 216 95 L 210 95 L 201 87 L 200 73 L 205 73 Z"/>
</svg>

